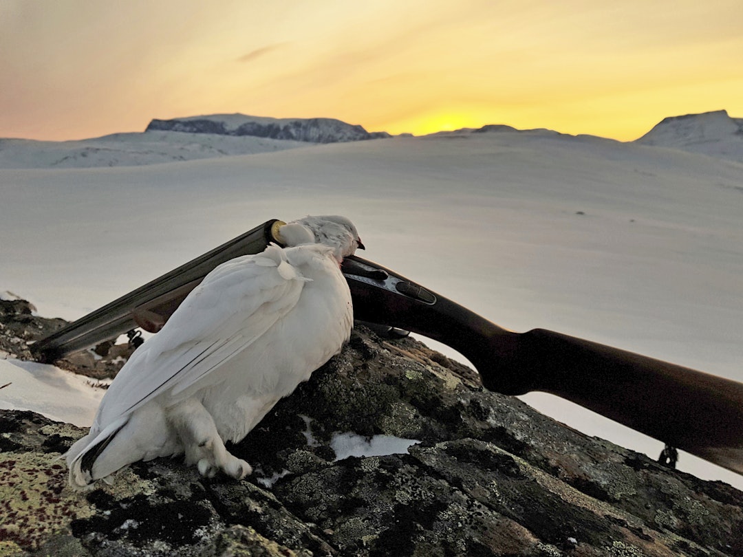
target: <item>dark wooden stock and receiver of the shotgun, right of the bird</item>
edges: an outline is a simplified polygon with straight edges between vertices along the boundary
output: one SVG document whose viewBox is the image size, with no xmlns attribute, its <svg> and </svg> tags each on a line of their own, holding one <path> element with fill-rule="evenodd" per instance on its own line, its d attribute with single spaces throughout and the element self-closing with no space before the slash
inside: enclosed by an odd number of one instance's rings
<svg viewBox="0 0 743 557">
<path fill-rule="evenodd" d="M 389 269 L 343 265 L 354 317 L 444 342 L 504 394 L 545 391 L 743 474 L 743 384 L 550 330 L 514 333 Z"/>
</svg>

